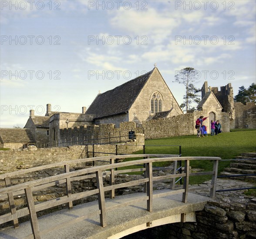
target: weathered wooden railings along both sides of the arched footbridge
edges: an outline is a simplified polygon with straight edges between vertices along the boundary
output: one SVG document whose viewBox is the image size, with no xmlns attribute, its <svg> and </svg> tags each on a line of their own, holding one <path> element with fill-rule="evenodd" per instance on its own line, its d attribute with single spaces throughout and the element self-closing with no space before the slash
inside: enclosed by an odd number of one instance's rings
<svg viewBox="0 0 256 239">
<path fill-rule="evenodd" d="M 132 160 L 128 162 L 122 162 L 122 163 L 114 163 L 114 159 L 117 158 L 134 158 L 134 157 L 146 157 L 145 159 L 138 159 L 138 160 Z M 152 158 L 153 157 L 153 158 Z M 110 164 L 108 165 L 101 165 L 101 166 L 95 166 L 91 168 L 86 169 L 80 169 L 76 171 L 69 172 L 69 165 L 74 163 L 84 163 L 92 160 L 106 160 L 110 159 Z M 154 176 L 152 174 L 153 168 L 152 163 L 154 162 L 167 162 L 172 161 L 177 162 L 177 160 L 182 160 L 185 162 L 185 169 L 184 173 L 177 173 L 176 169 L 172 169 L 171 175 L 165 175 L 165 176 Z M 189 161 L 190 160 L 213 160 L 213 170 L 211 172 L 200 172 L 200 173 L 189 173 Z M 1 216 L 1 224 L 9 221 L 13 221 L 13 226 L 18 226 L 18 218 L 25 215 L 30 215 L 30 224 L 32 228 L 33 234 L 30 234 L 27 238 L 35 238 L 40 239 L 40 236 L 50 232 L 51 230 L 57 229 L 57 228 L 64 228 L 71 223 L 75 223 L 81 220 L 84 220 L 88 218 L 88 215 L 81 216 L 79 218 L 74 219 L 73 221 L 69 221 L 66 223 L 61 223 L 61 225 L 55 226 L 52 229 L 46 229 L 44 231 L 39 230 L 38 220 L 37 220 L 37 212 L 42 211 L 45 209 L 49 209 L 54 206 L 58 206 L 61 204 L 68 205 L 68 208 L 71 209 L 73 206 L 73 201 L 77 199 L 81 199 L 87 196 L 98 194 L 98 206 L 100 210 L 100 223 L 102 227 L 107 226 L 106 217 L 104 217 L 104 213 L 106 210 L 113 209 L 115 207 L 122 207 L 122 206 L 128 206 L 132 205 L 135 202 L 141 202 L 141 201 L 147 201 L 147 210 L 149 212 L 152 212 L 152 202 L 154 198 L 162 197 L 162 196 L 168 196 L 173 195 L 177 193 L 182 193 L 182 202 L 187 202 L 188 199 L 188 192 L 189 192 L 189 176 L 196 176 L 196 175 L 212 175 L 212 183 L 211 186 L 206 186 L 204 188 L 210 189 L 210 197 L 215 197 L 215 191 L 216 191 L 216 179 L 217 179 L 217 171 L 218 171 L 218 161 L 221 160 L 218 157 L 177 157 L 176 155 L 157 155 L 157 154 L 139 154 L 139 155 L 119 155 L 119 156 L 103 156 L 103 157 L 97 157 L 97 158 L 90 158 L 90 159 L 77 159 L 77 160 L 71 160 L 71 161 L 65 161 L 60 163 L 54 163 L 51 165 L 45 165 L 45 166 L 39 166 L 34 167 L 30 169 L 24 169 L 8 174 L 2 174 L 1 178 L 5 180 L 6 188 L 1 189 L 1 195 L 0 199 L 7 199 L 9 200 L 10 209 L 11 212 L 4 214 Z M 133 166 L 133 165 L 144 165 L 143 168 L 139 169 L 125 169 L 125 170 L 115 170 L 119 167 L 125 167 L 125 166 Z M 24 173 L 31 173 L 38 170 L 43 170 L 47 168 L 57 167 L 57 166 L 64 166 L 65 173 L 61 173 L 55 176 L 49 176 L 43 179 L 37 179 L 34 181 L 21 183 L 18 185 L 11 186 L 11 177 L 17 176 Z M 128 172 L 142 172 L 144 171 L 144 178 L 138 179 L 135 181 L 130 181 L 126 183 L 119 183 L 115 184 L 115 174 L 116 173 L 128 173 Z M 110 175 L 110 185 L 104 186 L 103 185 L 103 175 Z M 171 188 L 174 188 L 175 178 L 176 177 L 183 177 L 184 183 L 183 183 L 183 189 L 179 190 L 170 190 L 167 193 L 158 193 L 153 195 L 153 181 L 163 180 L 163 179 L 173 179 Z M 97 189 L 92 189 L 89 191 L 84 191 L 80 193 L 71 193 L 71 182 L 72 181 L 78 181 L 82 179 L 90 179 L 90 178 L 96 178 L 97 182 Z M 174 182 L 174 183 L 173 183 Z M 39 204 L 34 204 L 33 199 L 33 191 L 38 191 L 40 189 L 44 189 L 47 187 L 55 186 L 61 183 L 65 183 L 66 185 L 66 196 L 61 196 L 57 199 L 52 199 L 46 202 L 42 202 Z M 129 202 L 125 202 L 122 204 L 118 204 L 116 206 L 111 206 L 106 208 L 105 206 L 105 196 L 104 192 L 110 191 L 111 197 L 115 197 L 115 189 L 120 189 L 123 187 L 129 187 L 129 186 L 136 186 L 140 184 L 145 184 L 146 186 L 146 195 L 142 193 L 142 196 L 138 199 L 131 200 Z M 200 187 L 202 189 L 202 187 Z M 17 196 L 20 194 L 25 194 L 26 200 L 27 200 L 27 208 L 16 210 L 15 204 L 14 204 L 14 198 L 13 196 Z"/>
</svg>

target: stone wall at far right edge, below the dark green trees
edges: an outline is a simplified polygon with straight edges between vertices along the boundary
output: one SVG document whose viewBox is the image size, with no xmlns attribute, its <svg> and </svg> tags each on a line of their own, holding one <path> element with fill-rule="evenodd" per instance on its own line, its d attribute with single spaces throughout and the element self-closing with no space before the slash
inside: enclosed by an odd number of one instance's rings
<svg viewBox="0 0 256 239">
<path fill-rule="evenodd" d="M 230 125 L 231 129 L 249 129 L 256 128 L 256 104 L 248 102 L 244 105 L 241 102 L 235 102 L 235 120 Z"/>
</svg>

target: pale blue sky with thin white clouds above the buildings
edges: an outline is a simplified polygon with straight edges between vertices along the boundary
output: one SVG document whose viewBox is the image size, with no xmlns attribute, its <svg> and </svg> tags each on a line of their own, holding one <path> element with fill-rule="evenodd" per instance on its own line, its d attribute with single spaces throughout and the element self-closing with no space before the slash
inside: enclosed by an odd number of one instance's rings
<svg viewBox="0 0 256 239">
<path fill-rule="evenodd" d="M 29 111 L 82 113 L 98 95 L 151 71 L 179 104 L 175 75 L 195 86 L 256 82 L 255 0 L 0 0 L 0 127 Z M 121 97 L 121 96 L 117 96 Z"/>
</svg>

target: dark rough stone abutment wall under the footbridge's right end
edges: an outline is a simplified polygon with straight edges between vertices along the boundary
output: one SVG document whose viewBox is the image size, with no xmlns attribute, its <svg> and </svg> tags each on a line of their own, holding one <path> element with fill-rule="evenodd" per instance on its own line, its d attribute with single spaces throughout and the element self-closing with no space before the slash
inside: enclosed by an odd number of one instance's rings
<svg viewBox="0 0 256 239">
<path fill-rule="evenodd" d="M 197 225 L 173 224 L 177 238 L 255 238 L 256 200 L 230 201 L 208 202 L 203 211 L 196 212 Z"/>
</svg>

